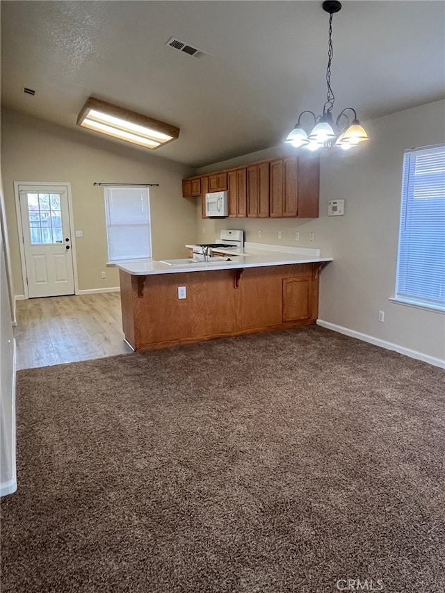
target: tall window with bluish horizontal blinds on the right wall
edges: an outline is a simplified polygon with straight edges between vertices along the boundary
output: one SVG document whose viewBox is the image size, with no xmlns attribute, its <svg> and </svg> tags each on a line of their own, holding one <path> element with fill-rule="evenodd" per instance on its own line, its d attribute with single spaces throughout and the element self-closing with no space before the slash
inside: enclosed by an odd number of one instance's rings
<svg viewBox="0 0 445 593">
<path fill-rule="evenodd" d="M 445 145 L 405 151 L 396 300 L 445 311 Z"/>
</svg>

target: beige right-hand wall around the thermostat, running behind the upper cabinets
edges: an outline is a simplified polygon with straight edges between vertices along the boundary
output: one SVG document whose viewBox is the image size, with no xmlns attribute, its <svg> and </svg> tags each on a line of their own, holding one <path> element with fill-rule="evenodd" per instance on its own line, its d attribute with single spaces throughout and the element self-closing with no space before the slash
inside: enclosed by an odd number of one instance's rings
<svg viewBox="0 0 445 593">
<path fill-rule="evenodd" d="M 388 300 L 394 296 L 396 279 L 403 151 L 444 143 L 444 113 L 445 101 L 436 101 L 366 122 L 371 140 L 359 152 L 323 154 L 320 218 L 202 220 L 198 207 L 199 238 L 213 240 L 220 229 L 229 227 L 244 229 L 247 241 L 321 247 L 323 255 L 334 257 L 321 273 L 321 320 L 444 360 L 445 315 Z M 286 152 L 274 147 L 197 172 Z M 328 200 L 339 198 L 345 200 L 345 216 L 327 217 Z M 315 234 L 314 243 L 309 242 L 309 231 Z M 385 311 L 385 323 L 378 321 L 379 310 Z"/>
</svg>

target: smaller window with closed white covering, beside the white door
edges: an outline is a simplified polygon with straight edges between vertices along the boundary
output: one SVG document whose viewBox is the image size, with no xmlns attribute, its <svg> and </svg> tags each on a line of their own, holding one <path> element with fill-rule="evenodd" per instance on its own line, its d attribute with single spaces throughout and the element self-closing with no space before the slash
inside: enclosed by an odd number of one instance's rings
<svg viewBox="0 0 445 593">
<path fill-rule="evenodd" d="M 152 257 L 148 188 L 105 188 L 108 261 Z"/>
</svg>

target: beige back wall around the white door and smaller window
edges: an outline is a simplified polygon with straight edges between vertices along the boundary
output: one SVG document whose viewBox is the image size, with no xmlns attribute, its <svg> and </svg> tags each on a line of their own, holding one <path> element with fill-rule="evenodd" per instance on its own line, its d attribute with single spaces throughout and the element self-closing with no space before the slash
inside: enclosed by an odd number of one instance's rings
<svg viewBox="0 0 445 593">
<path fill-rule="evenodd" d="M 185 165 L 3 109 L 1 169 L 16 295 L 24 291 L 14 181 L 70 182 L 74 227 L 83 232 L 73 238 L 81 291 L 119 286 L 118 269 L 106 267 L 104 189 L 94 181 L 159 184 L 150 189 L 154 259 L 184 256 L 184 245 L 195 240 L 195 202 L 181 193 L 181 179 L 191 173 Z"/>
</svg>

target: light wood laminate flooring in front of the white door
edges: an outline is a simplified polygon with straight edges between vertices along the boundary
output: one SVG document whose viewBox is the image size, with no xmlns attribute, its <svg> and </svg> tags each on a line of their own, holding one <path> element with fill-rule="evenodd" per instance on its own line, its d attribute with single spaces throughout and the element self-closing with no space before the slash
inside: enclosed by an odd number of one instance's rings
<svg viewBox="0 0 445 593">
<path fill-rule="evenodd" d="M 22 300 L 16 316 L 17 369 L 131 352 L 118 292 Z"/>
</svg>

